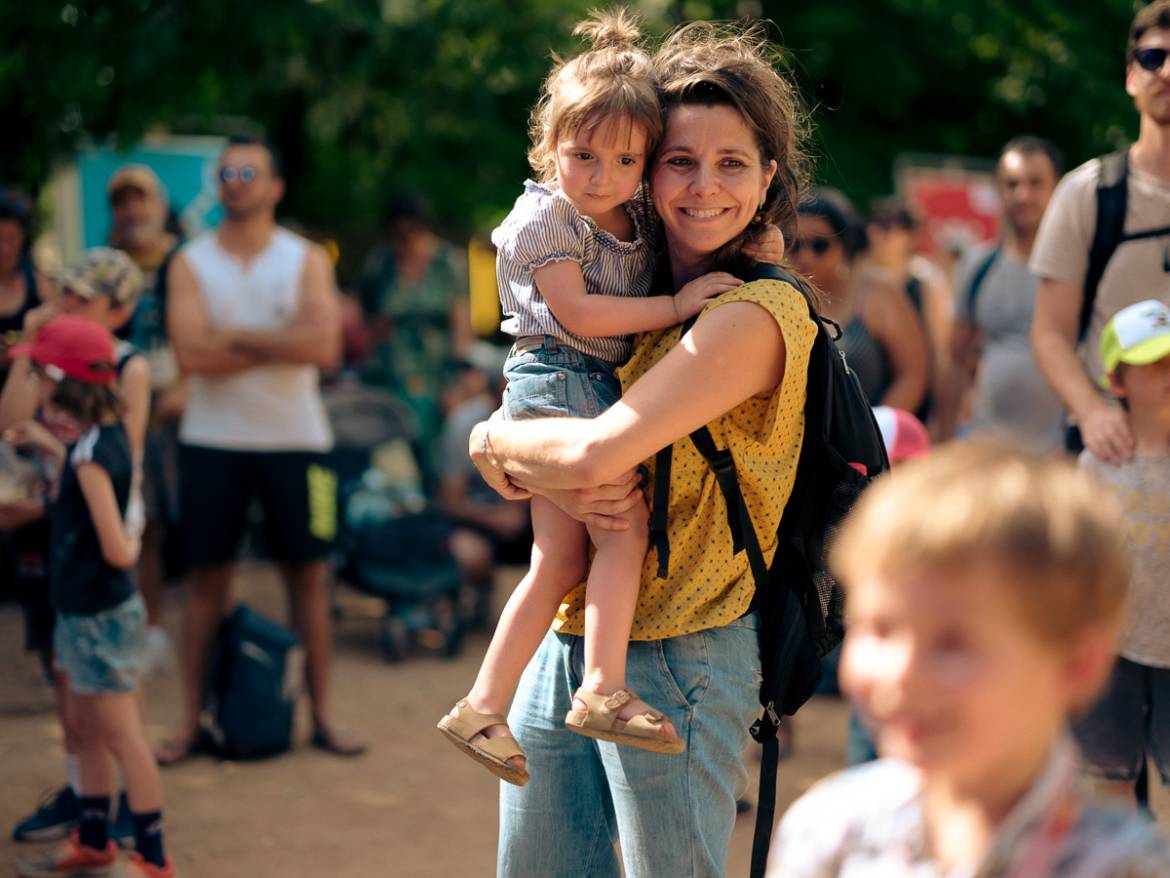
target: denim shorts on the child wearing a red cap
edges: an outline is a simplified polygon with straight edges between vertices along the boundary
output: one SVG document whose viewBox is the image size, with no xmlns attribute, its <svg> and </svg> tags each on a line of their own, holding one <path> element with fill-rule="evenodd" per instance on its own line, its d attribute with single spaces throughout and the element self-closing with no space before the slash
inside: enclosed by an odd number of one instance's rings
<svg viewBox="0 0 1170 878">
<path fill-rule="evenodd" d="M 146 606 L 137 591 L 92 616 L 57 613 L 53 660 L 81 695 L 133 692 L 145 633 Z"/>
</svg>

